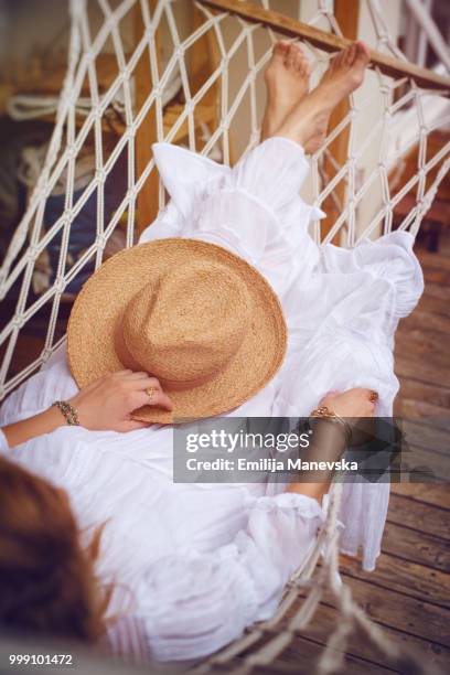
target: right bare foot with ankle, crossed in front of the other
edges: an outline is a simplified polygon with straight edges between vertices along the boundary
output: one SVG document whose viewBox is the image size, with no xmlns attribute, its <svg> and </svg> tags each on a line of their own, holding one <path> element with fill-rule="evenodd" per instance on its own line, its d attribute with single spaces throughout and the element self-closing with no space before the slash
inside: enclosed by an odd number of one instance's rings
<svg viewBox="0 0 450 675">
<path fill-rule="evenodd" d="M 296 140 L 307 152 L 314 152 L 326 135 L 333 108 L 362 84 L 368 62 L 369 51 L 363 42 L 342 50 L 319 86 L 296 106 L 276 135 Z"/>
</svg>

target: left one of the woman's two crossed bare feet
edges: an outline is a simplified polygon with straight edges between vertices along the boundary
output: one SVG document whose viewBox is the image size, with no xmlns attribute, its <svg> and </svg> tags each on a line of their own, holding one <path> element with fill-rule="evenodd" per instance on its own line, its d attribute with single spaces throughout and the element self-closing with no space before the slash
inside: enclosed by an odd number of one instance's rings
<svg viewBox="0 0 450 675">
<path fill-rule="evenodd" d="M 264 75 L 267 104 L 262 119 L 261 140 L 274 136 L 283 119 L 300 103 L 309 88 L 310 65 L 301 47 L 277 42 Z"/>
</svg>

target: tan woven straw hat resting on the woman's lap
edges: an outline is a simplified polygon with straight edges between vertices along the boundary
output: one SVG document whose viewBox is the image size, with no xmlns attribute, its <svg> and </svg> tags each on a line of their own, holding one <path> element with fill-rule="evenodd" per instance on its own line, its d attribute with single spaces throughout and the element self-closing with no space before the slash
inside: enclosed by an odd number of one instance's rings
<svg viewBox="0 0 450 675">
<path fill-rule="evenodd" d="M 67 344 L 79 387 L 124 368 L 158 377 L 174 410 L 144 406 L 132 417 L 173 424 L 259 392 L 282 363 L 286 323 L 269 283 L 238 256 L 159 239 L 118 253 L 85 283 Z"/>
</svg>

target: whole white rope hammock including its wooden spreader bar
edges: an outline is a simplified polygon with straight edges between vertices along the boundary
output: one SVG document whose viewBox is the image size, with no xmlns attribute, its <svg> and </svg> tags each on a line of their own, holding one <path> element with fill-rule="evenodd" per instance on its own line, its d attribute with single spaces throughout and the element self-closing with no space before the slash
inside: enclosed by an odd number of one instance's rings
<svg viewBox="0 0 450 675">
<path fill-rule="evenodd" d="M 67 289 L 101 264 L 105 248 L 118 232 L 122 233 L 122 245 L 132 246 L 164 206 L 150 143 L 183 142 L 214 159 L 219 156 L 225 163 L 235 161 L 258 142 L 260 77 L 276 35 L 302 40 L 313 66 L 312 84 L 330 55 L 349 43 L 326 0 L 318 0 L 313 15 L 302 14 L 303 22 L 272 11 L 277 9 L 275 0 L 202 0 L 195 3 L 193 26 L 188 32 L 186 19 L 194 10 L 188 0 L 97 0 L 100 25 L 95 35 L 88 13 L 93 4 L 69 0 L 68 61 L 61 96 L 56 105 L 54 96 L 36 100 L 38 111 L 47 114 L 56 108 L 56 113 L 26 212 L 0 270 L 1 299 L 12 298 L 14 303 L 13 315 L 0 333 L 0 398 L 36 371 L 64 340 L 56 328 Z M 363 9 L 372 21 L 374 46 L 381 51 L 373 52 L 365 86 L 351 97 L 346 109 L 341 107 L 340 119 L 331 126 L 324 146 L 312 156 L 311 180 L 306 186 L 306 199 L 331 214 L 312 227 L 311 234 L 322 245 L 335 242 L 354 246 L 363 237 L 390 232 L 396 206 L 410 194 L 414 206 L 398 227 L 416 234 L 450 167 L 450 142 L 433 156 L 427 144 L 435 129 L 450 122 L 443 98 L 450 81 L 406 61 L 389 35 L 378 0 L 365 0 Z M 135 35 L 133 47 L 126 52 L 124 36 L 129 43 L 130 34 Z M 214 64 L 210 69 L 201 58 L 205 50 L 210 66 Z M 98 76 L 105 53 L 115 64 L 106 85 Z M 174 82 L 181 83 L 178 92 Z M 30 106 L 30 97 L 12 101 L 10 109 L 24 104 Z M 438 117 L 433 110 L 440 111 Z M 29 113 L 28 108 L 28 117 Z M 400 114 L 407 115 L 408 133 L 393 136 Z M 86 147 L 93 154 L 93 171 L 79 188 L 77 164 Z M 417 171 L 393 181 L 393 169 L 401 165 L 415 148 Z M 124 157 L 126 184 L 107 213 L 105 186 Z M 46 206 L 55 185 L 61 190 L 62 182 L 64 204 L 61 214 L 49 222 Z M 69 256 L 72 226 L 93 195 L 96 217 L 92 238 L 74 261 Z M 55 242 L 54 278 L 40 294 L 33 294 L 39 260 Z M 42 312 L 46 312 L 46 329 L 41 352 L 25 367 L 11 373 L 21 336 Z M 400 663 L 399 647 L 354 603 L 350 589 L 340 580 L 336 524 L 341 492 L 342 486 L 335 484 L 318 544 L 303 569 L 288 583 L 277 614 L 196 666 L 197 672 L 250 672 L 270 664 L 275 672 L 277 660 L 308 625 L 325 589 L 335 597 L 342 621 L 322 653 L 319 673 L 342 666 L 346 639 L 356 624 L 387 660 Z M 322 565 L 312 579 L 321 554 Z M 416 667 L 425 672 L 420 664 Z M 283 672 L 288 669 L 285 665 Z"/>
</svg>

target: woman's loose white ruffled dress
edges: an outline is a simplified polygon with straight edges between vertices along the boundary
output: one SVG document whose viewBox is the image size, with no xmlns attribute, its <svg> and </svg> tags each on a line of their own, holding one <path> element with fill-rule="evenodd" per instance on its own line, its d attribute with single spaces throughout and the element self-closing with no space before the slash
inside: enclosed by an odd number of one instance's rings
<svg viewBox="0 0 450 675">
<path fill-rule="evenodd" d="M 394 332 L 422 292 L 413 237 L 319 249 L 308 226 L 322 213 L 298 196 L 309 164 L 286 139 L 265 141 L 234 169 L 165 143 L 153 149 L 172 200 L 141 242 L 180 236 L 227 247 L 267 277 L 283 306 L 285 364 L 232 415 L 303 416 L 329 390 L 354 386 L 376 389 L 377 414 L 390 415 Z M 3 404 L 0 425 L 75 393 L 60 349 Z M 323 517 L 315 501 L 285 494 L 276 481 L 173 484 L 171 427 L 62 427 L 3 451 L 67 491 L 86 536 L 107 522 L 98 571 L 116 582 L 111 612 L 139 618 L 158 660 L 203 656 L 270 617 Z M 386 484 L 344 488 L 341 546 L 362 547 L 366 569 L 379 553 L 387 500 Z"/>
</svg>

